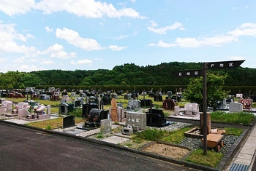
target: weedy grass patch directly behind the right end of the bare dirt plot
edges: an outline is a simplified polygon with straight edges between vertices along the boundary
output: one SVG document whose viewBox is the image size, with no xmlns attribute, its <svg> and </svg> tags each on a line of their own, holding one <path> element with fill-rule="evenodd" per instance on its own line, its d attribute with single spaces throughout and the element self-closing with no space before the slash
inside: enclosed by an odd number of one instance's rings
<svg viewBox="0 0 256 171">
<path fill-rule="evenodd" d="M 174 131 L 161 140 L 169 143 L 181 143 L 181 140 L 185 138 L 184 132 L 187 132 L 188 130 L 191 130 L 191 127 L 184 127 L 181 130 Z"/>
</svg>

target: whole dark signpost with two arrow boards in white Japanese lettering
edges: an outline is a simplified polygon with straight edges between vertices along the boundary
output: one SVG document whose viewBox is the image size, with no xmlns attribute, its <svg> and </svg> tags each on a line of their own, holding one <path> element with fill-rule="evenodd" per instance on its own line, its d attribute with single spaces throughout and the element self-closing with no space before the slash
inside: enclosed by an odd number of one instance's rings
<svg viewBox="0 0 256 171">
<path fill-rule="evenodd" d="M 223 62 L 211 62 L 203 63 L 203 70 L 192 70 L 192 71 L 176 71 L 173 72 L 178 77 L 195 77 L 203 76 L 203 154 L 207 155 L 207 84 L 206 74 L 207 69 L 226 69 L 226 68 L 238 68 L 245 60 L 233 60 Z"/>
</svg>

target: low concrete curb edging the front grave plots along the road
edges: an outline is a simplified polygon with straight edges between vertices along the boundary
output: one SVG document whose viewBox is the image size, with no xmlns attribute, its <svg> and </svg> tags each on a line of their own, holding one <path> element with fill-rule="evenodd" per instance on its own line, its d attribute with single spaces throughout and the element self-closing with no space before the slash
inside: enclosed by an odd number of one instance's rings
<svg viewBox="0 0 256 171">
<path fill-rule="evenodd" d="M 195 164 L 195 163 L 192 163 L 192 162 L 187 162 L 187 161 L 184 161 L 184 160 L 172 159 L 172 158 L 161 156 L 161 155 L 158 155 L 158 154 L 148 153 L 146 151 L 140 151 L 140 150 L 137 150 L 137 149 L 127 148 L 125 146 L 119 146 L 119 145 L 116 145 L 116 144 L 113 144 L 113 143 L 108 143 L 108 142 L 105 142 L 105 141 L 102 141 L 102 140 L 95 140 L 95 139 L 91 139 L 91 138 L 82 138 L 82 137 L 75 136 L 75 135 L 72 135 L 72 134 L 69 134 L 69 133 L 66 133 L 66 132 L 56 132 L 56 131 L 53 131 L 53 130 L 44 130 L 44 129 L 41 129 L 41 128 L 38 128 L 38 127 L 31 127 L 31 126 L 27 126 L 25 124 L 17 124 L 15 122 L 8 122 L 8 121 L 5 121 L 5 120 L 0 120 L 0 122 L 4 122 L 5 124 L 12 124 L 12 125 L 15 125 L 15 126 L 18 126 L 18 127 L 24 127 L 24 128 L 31 129 L 31 130 L 43 131 L 43 132 L 47 132 L 49 134 L 63 135 L 63 136 L 68 137 L 68 138 L 74 138 L 74 139 L 77 139 L 77 140 L 84 140 L 84 141 L 89 142 L 89 143 L 96 143 L 98 145 L 108 146 L 108 147 L 111 147 L 111 148 L 118 148 L 120 150 L 129 151 L 129 152 L 132 152 L 132 153 L 135 153 L 135 154 L 140 154 L 140 155 L 143 155 L 143 156 L 148 156 L 148 157 L 151 157 L 151 158 L 154 158 L 154 159 L 159 159 L 159 160 L 162 160 L 162 161 L 165 161 L 165 162 L 171 162 L 171 163 L 183 165 L 183 166 L 186 166 L 186 167 L 192 167 L 192 168 L 197 169 L 197 170 L 218 171 L 218 170 L 222 170 L 223 166 L 225 165 L 224 160 L 223 161 L 221 160 L 222 164 L 219 164 L 217 168 L 208 167 L 208 166 L 204 166 L 204 165 L 200 165 L 200 164 Z M 240 137 L 241 137 L 241 135 L 240 135 Z M 244 137 L 241 137 L 241 139 L 242 138 L 244 138 Z M 240 141 L 238 141 L 236 143 L 239 143 L 239 142 Z M 232 149 L 232 150 L 230 149 L 230 153 L 233 154 L 234 150 L 235 149 Z M 227 156 L 230 157 L 230 153 L 229 153 L 229 155 L 226 154 L 224 156 L 225 159 L 229 159 Z"/>
</svg>

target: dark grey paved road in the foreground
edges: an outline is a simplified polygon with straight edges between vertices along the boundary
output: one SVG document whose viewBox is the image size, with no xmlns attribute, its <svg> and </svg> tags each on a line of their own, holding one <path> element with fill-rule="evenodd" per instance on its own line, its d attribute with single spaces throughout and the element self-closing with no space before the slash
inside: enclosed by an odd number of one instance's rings
<svg viewBox="0 0 256 171">
<path fill-rule="evenodd" d="M 116 148 L 0 122 L 0 170 L 191 170 Z"/>
</svg>

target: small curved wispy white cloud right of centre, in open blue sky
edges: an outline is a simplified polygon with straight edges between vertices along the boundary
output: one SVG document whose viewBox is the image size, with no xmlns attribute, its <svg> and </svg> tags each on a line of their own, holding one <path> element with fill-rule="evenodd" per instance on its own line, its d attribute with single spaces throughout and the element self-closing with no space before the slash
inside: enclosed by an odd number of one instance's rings
<svg viewBox="0 0 256 171">
<path fill-rule="evenodd" d="M 173 25 L 167 25 L 164 28 L 155 28 L 157 23 L 154 23 L 154 21 L 150 21 L 150 23 L 151 27 L 148 27 L 148 31 L 153 31 L 154 33 L 165 34 L 167 31 L 176 30 L 177 28 L 184 30 L 183 25 L 178 22 L 174 23 Z"/>
</svg>

